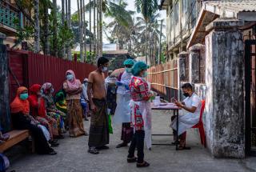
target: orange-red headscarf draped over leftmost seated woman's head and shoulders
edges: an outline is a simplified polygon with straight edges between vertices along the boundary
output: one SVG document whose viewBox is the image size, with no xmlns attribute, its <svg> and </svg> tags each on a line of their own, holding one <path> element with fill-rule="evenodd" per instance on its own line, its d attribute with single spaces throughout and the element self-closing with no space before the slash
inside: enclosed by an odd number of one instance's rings
<svg viewBox="0 0 256 172">
<path fill-rule="evenodd" d="M 14 101 L 10 103 L 10 112 L 11 113 L 18 113 L 22 112 L 22 114 L 29 114 L 30 113 L 30 102 L 28 100 L 22 100 L 19 98 L 19 95 L 22 94 L 24 90 L 27 90 L 26 87 L 21 86 L 17 90 L 17 95 L 14 98 Z"/>
</svg>

